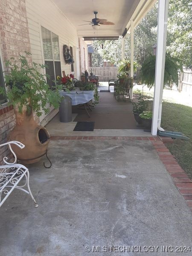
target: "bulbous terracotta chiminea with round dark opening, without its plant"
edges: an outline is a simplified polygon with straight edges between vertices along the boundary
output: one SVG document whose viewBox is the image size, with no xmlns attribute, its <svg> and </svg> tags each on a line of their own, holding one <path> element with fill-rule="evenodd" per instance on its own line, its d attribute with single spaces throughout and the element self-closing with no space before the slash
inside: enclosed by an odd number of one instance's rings
<svg viewBox="0 0 192 256">
<path fill-rule="evenodd" d="M 46 128 L 38 125 L 34 118 L 33 112 L 28 113 L 26 107 L 23 107 L 22 113 L 15 108 L 15 128 L 9 133 L 8 140 L 17 140 L 25 145 L 20 149 L 12 145 L 17 159 L 21 163 L 35 163 L 46 153 L 50 141 L 50 135 Z"/>
</svg>

